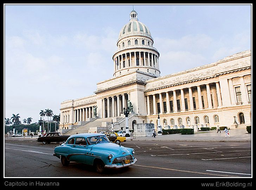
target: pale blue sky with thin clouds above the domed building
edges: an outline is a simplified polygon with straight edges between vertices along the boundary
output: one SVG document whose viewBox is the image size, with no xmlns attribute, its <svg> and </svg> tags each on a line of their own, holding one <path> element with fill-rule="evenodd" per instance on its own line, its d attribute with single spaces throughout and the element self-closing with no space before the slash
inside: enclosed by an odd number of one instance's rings
<svg viewBox="0 0 256 190">
<path fill-rule="evenodd" d="M 160 53 L 161 76 L 251 49 L 252 5 L 136 5 Z M 113 77 L 132 5 L 5 5 L 4 112 L 40 119 Z M 40 90 L 39 90 L 40 89 Z"/>
</svg>

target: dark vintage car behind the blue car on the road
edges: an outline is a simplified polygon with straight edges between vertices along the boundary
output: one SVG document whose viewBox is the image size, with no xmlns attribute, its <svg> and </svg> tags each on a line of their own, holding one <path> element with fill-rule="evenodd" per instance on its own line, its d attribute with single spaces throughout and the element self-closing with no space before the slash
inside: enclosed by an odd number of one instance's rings
<svg viewBox="0 0 256 190">
<path fill-rule="evenodd" d="M 43 142 L 43 144 L 49 144 L 51 142 L 63 142 L 65 143 L 66 140 L 70 137 L 70 135 L 61 135 L 60 132 L 50 132 L 47 133 L 45 136 L 38 137 L 38 142 Z"/>
</svg>

